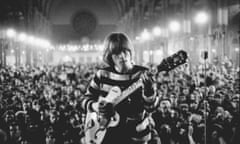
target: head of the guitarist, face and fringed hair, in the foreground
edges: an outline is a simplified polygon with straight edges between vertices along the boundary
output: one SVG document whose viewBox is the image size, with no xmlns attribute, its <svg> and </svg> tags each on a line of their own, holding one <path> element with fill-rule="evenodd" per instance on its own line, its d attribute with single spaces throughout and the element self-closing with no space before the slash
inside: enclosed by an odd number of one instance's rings
<svg viewBox="0 0 240 144">
<path fill-rule="evenodd" d="M 129 70 L 132 67 L 133 46 L 124 33 L 111 33 L 105 39 L 103 60 L 109 66 Z"/>
</svg>

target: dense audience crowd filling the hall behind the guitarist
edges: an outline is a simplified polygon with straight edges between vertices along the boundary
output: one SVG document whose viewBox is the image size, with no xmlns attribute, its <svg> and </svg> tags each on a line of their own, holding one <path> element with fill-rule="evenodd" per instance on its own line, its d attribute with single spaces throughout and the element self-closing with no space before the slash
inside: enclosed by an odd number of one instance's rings
<svg viewBox="0 0 240 144">
<path fill-rule="evenodd" d="M 0 68 L 0 143 L 84 144 L 79 99 L 99 67 Z M 187 63 L 154 78 L 159 104 L 149 144 L 239 142 L 239 69 Z"/>
</svg>

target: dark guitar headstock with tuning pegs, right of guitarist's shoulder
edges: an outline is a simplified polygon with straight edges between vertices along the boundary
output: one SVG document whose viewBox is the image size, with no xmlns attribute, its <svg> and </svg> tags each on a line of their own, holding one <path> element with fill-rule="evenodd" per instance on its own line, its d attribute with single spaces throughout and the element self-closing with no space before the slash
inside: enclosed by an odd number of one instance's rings
<svg viewBox="0 0 240 144">
<path fill-rule="evenodd" d="M 179 65 L 186 63 L 188 58 L 187 52 L 180 50 L 177 53 L 162 60 L 161 64 L 157 66 L 158 72 L 170 71 Z"/>
</svg>

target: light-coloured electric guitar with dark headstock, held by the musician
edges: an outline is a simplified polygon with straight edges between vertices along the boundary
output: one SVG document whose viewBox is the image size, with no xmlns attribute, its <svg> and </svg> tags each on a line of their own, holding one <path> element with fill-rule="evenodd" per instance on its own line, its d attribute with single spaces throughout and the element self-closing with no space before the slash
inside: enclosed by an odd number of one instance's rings
<svg viewBox="0 0 240 144">
<path fill-rule="evenodd" d="M 178 51 L 162 60 L 161 64 L 157 66 L 157 71 L 170 71 L 179 65 L 186 63 L 188 56 L 183 50 Z M 144 73 L 143 73 L 144 74 Z M 113 106 L 118 105 L 124 99 L 126 99 L 131 93 L 133 93 L 138 88 L 143 87 L 143 79 L 140 78 L 138 81 L 133 83 L 124 91 L 117 86 L 110 89 L 106 97 L 100 97 L 98 102 L 101 103 L 111 103 Z M 87 112 L 85 119 L 85 143 L 86 144 L 101 144 L 107 128 L 115 127 L 120 121 L 120 115 L 115 112 L 115 115 L 111 118 L 102 117 L 97 112 Z"/>
</svg>

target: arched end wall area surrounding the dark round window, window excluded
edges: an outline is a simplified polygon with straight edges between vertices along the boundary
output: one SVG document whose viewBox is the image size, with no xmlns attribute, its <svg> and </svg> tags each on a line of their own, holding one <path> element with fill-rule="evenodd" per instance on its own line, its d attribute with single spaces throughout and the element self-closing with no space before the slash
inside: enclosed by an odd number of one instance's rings
<svg viewBox="0 0 240 144">
<path fill-rule="evenodd" d="M 116 30 L 125 6 L 125 0 L 46 0 L 46 3 L 53 35 L 56 41 L 60 42 L 68 39 L 79 40 L 83 36 L 90 39 L 104 38 L 107 33 Z M 76 24 L 73 24 L 72 18 L 79 11 L 88 11 L 94 15 L 97 22 L 94 30 L 84 34 L 79 33 L 82 30 L 76 31 Z"/>
</svg>

